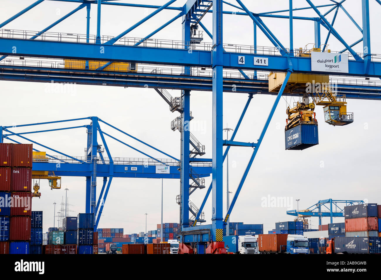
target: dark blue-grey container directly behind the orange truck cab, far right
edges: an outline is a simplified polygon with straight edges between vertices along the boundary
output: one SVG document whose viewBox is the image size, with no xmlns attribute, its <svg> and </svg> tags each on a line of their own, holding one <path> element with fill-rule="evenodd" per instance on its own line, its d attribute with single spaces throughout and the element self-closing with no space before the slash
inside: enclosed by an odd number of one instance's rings
<svg viewBox="0 0 381 280">
<path fill-rule="evenodd" d="M 380 237 L 336 237 L 335 253 L 381 253 Z"/>
</svg>

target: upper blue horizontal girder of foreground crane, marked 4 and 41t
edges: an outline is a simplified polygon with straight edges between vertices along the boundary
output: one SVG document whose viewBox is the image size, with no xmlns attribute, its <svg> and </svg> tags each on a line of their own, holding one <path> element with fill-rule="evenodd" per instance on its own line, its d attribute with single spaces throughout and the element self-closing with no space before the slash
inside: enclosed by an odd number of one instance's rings
<svg viewBox="0 0 381 280">
<path fill-rule="evenodd" d="M 13 53 L 14 47 L 17 53 Z M 104 53 L 100 53 L 104 48 Z M 121 61 L 146 64 L 179 65 L 189 67 L 210 67 L 210 51 L 166 48 L 149 48 L 144 46 L 118 46 L 118 45 L 94 45 L 86 43 L 48 42 L 41 40 L 20 40 L 0 38 L 0 54 L 17 55 L 41 58 L 67 58 L 95 61 Z M 240 65 L 238 56 L 245 56 L 245 65 Z M 257 66 L 251 63 L 255 57 L 268 59 L 268 66 Z M 291 60 L 293 70 L 300 73 L 311 73 L 311 58 L 283 57 L 279 55 L 263 54 L 222 54 L 222 66 L 224 69 L 247 69 L 285 72 L 289 68 L 288 59 Z M 363 76 L 363 62 L 349 60 L 349 76 Z M 313 72 L 315 74 L 336 75 L 335 72 Z M 381 76 L 381 62 L 369 62 L 369 77 Z"/>
</svg>

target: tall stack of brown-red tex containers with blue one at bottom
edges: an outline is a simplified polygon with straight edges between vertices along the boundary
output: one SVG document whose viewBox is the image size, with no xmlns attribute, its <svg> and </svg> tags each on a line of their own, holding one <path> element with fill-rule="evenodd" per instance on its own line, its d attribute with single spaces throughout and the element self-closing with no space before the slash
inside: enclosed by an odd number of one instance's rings
<svg viewBox="0 0 381 280">
<path fill-rule="evenodd" d="M 10 216 L 9 253 L 29 254 L 32 215 L 32 145 L 8 143 L 0 145 L 2 157 L 0 163 L 2 167 L 5 167 L 2 172 L 6 173 L 6 177 L 10 175 L 10 187 L 3 186 L 8 189 L 4 196 L 9 198 L 6 201 L 11 203 L 5 205 L 5 208 L 8 210 L 10 208 L 10 212 L 2 209 L 3 214 Z"/>
</svg>

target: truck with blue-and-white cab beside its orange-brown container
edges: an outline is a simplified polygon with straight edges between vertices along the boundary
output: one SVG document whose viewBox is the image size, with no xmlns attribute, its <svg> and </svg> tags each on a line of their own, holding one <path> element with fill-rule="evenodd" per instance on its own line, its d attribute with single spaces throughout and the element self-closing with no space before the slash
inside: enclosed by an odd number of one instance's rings
<svg viewBox="0 0 381 280">
<path fill-rule="evenodd" d="M 308 239 L 298 234 L 259 234 L 260 254 L 309 254 Z"/>
</svg>

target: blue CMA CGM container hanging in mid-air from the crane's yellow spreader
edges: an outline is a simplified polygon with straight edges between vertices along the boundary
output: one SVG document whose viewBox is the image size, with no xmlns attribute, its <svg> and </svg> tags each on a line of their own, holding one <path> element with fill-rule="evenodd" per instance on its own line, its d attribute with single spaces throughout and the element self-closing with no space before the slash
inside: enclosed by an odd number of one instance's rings
<svg viewBox="0 0 381 280">
<path fill-rule="evenodd" d="M 286 150 L 304 150 L 319 144 L 317 125 L 298 125 L 285 131 Z"/>
</svg>

